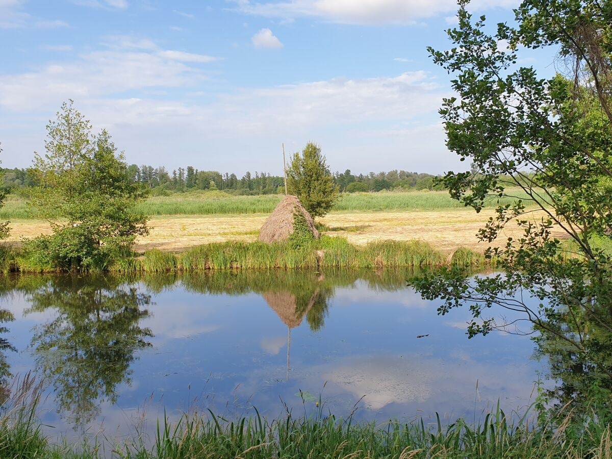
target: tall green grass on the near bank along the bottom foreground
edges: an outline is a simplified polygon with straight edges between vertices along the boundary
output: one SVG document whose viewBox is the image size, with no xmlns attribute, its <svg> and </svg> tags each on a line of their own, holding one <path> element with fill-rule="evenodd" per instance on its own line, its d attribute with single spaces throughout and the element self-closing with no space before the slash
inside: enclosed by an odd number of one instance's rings
<svg viewBox="0 0 612 459">
<path fill-rule="evenodd" d="M 13 410 L 0 424 L 0 455 L 6 458 L 125 459 L 179 458 L 589 458 L 612 454 L 610 426 L 596 416 L 586 422 L 566 417 L 531 425 L 512 423 L 501 409 L 477 425 L 459 419 L 448 426 L 436 416 L 408 424 L 358 423 L 337 419 L 323 406 L 310 416 L 268 420 L 242 417 L 234 422 L 207 415 L 185 415 L 178 422 L 158 420 L 154 439 L 144 436 L 114 444 L 94 438 L 83 444 L 43 435 L 29 409 Z"/>
</svg>

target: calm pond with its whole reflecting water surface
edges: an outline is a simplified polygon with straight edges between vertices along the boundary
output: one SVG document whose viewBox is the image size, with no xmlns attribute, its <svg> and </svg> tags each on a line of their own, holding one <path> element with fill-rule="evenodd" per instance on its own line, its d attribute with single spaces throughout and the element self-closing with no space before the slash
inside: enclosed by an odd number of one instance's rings
<svg viewBox="0 0 612 459">
<path fill-rule="evenodd" d="M 534 400 L 528 337 L 468 339 L 411 271 L 2 278 L 0 369 L 32 372 L 52 433 L 124 435 L 211 409 L 383 421 L 479 419 Z M 12 376 L 10 376 L 12 374 Z"/>
</svg>

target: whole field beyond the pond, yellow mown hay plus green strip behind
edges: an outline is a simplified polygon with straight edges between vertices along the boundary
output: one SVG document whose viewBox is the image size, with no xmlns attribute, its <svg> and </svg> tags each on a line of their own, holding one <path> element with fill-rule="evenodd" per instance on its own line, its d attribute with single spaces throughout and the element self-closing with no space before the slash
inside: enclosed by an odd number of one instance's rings
<svg viewBox="0 0 612 459">
<path fill-rule="evenodd" d="M 521 196 L 518 191 L 515 195 Z M 281 199 L 282 195 L 229 196 L 222 192 L 151 197 L 139 205 L 140 211 L 151 215 L 151 233 L 138 239 L 136 251 L 159 248 L 182 252 L 211 242 L 255 241 Z M 346 237 L 356 245 L 417 239 L 448 253 L 458 247 L 483 252 L 487 245 L 479 243 L 476 234 L 494 215 L 496 203 L 491 200 L 477 214 L 452 200 L 447 192 L 353 193 L 343 195 L 334 211 L 317 222 L 325 225 L 321 233 Z M 542 216 L 539 212 L 529 214 L 535 220 Z M 18 196 L 10 195 L 0 209 L 0 221 L 6 219 L 12 228 L 9 242 L 50 232 L 48 222 L 29 218 L 25 201 Z M 518 228 L 510 224 L 498 244 L 518 234 Z"/>
</svg>

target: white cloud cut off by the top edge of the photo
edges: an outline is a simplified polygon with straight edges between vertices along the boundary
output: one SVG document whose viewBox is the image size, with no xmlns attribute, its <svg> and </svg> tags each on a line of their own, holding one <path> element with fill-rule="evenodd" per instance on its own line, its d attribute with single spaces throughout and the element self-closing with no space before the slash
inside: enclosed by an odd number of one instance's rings
<svg viewBox="0 0 612 459">
<path fill-rule="evenodd" d="M 421 18 L 435 17 L 457 11 L 455 0 L 290 0 L 258 2 L 230 0 L 235 10 L 268 18 L 290 20 L 316 17 L 326 21 L 349 24 L 414 24 Z M 517 0 L 474 0 L 476 10 L 492 7 L 512 7 Z"/>
</svg>

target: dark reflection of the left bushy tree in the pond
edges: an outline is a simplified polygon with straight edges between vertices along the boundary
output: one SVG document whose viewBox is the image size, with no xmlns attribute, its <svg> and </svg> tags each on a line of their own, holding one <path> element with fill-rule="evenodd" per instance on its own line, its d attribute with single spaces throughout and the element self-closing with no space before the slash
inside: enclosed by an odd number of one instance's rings
<svg viewBox="0 0 612 459">
<path fill-rule="evenodd" d="M 37 326 L 32 348 L 39 373 L 53 384 L 58 410 L 76 425 L 92 420 L 102 401 L 114 403 L 130 384 L 136 352 L 152 331 L 138 326 L 149 317 L 151 296 L 115 277 L 54 277 L 27 294 L 29 313 L 53 310 Z"/>
</svg>

